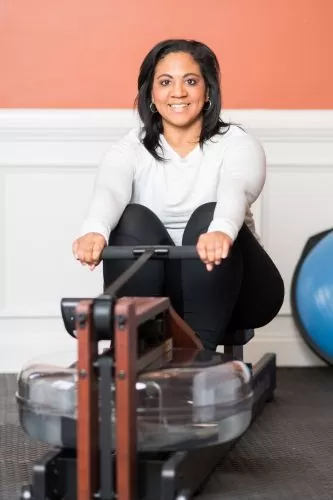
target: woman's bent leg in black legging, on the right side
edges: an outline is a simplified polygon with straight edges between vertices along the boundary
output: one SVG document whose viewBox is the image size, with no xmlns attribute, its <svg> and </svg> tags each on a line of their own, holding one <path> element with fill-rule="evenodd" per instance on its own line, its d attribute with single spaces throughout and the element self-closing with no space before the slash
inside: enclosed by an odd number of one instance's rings
<svg viewBox="0 0 333 500">
<path fill-rule="evenodd" d="M 190 218 L 183 244 L 194 245 L 207 231 L 215 203 L 199 207 Z M 271 321 L 284 298 L 281 275 L 244 224 L 230 255 L 212 272 L 200 261 L 182 265 L 183 316 L 206 349 L 215 350 L 235 328 L 258 328 Z"/>
</svg>

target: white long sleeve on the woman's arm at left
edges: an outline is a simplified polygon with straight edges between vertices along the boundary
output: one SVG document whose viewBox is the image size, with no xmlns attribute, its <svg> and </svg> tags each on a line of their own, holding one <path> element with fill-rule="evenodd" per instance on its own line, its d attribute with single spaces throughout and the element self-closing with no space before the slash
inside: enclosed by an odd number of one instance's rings
<svg viewBox="0 0 333 500">
<path fill-rule="evenodd" d="M 135 148 L 128 137 L 111 146 L 99 165 L 81 234 L 100 233 L 108 242 L 132 195 Z"/>
</svg>

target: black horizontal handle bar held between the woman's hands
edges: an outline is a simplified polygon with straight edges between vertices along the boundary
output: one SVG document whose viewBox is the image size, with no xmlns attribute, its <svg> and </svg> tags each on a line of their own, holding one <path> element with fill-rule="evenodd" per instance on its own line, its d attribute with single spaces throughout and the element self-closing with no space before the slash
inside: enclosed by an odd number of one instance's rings
<svg viewBox="0 0 333 500">
<path fill-rule="evenodd" d="M 134 260 L 144 252 L 152 251 L 150 259 L 198 259 L 199 254 L 195 246 L 108 246 L 102 252 L 102 260 L 119 259 Z"/>
</svg>

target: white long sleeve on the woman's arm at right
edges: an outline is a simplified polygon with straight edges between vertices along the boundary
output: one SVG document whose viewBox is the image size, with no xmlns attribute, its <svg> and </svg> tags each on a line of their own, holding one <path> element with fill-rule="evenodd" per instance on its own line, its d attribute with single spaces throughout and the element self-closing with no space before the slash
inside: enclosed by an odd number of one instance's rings
<svg viewBox="0 0 333 500">
<path fill-rule="evenodd" d="M 247 208 L 258 198 L 266 180 L 263 147 L 251 135 L 241 135 L 228 145 L 218 184 L 217 204 L 208 232 L 221 231 L 234 241 Z"/>
</svg>

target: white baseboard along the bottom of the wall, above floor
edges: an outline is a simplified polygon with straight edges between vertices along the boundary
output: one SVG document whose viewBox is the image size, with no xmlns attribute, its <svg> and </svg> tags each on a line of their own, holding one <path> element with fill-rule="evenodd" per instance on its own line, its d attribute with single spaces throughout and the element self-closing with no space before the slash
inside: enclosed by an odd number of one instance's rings
<svg viewBox="0 0 333 500">
<path fill-rule="evenodd" d="M 75 360 L 77 341 L 70 337 L 59 318 L 7 319 L 2 323 L 0 372 L 18 373 L 33 359 L 66 363 Z M 290 317 L 278 317 L 257 330 L 245 347 L 245 360 L 256 363 L 266 352 L 276 353 L 278 366 L 323 366 L 324 363 L 306 346 Z"/>
</svg>

